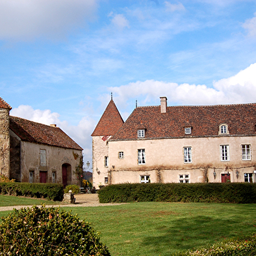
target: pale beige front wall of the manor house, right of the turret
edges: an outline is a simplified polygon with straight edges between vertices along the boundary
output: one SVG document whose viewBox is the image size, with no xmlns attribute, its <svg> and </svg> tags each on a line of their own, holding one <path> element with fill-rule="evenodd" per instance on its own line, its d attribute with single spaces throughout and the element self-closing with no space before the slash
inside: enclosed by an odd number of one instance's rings
<svg viewBox="0 0 256 256">
<path fill-rule="evenodd" d="M 250 160 L 242 160 L 243 144 L 251 146 Z M 229 161 L 221 161 L 220 145 L 229 145 Z M 192 148 L 192 163 L 184 163 L 187 146 Z M 138 165 L 138 149 L 145 150 L 143 165 Z M 118 152 L 124 153 L 123 159 Z M 256 136 L 109 141 L 108 156 L 110 184 L 138 183 L 140 176 L 177 183 L 182 175 L 188 175 L 191 183 L 221 182 L 223 174 L 229 174 L 231 182 L 244 182 L 244 174 L 251 174 L 256 182 Z"/>
</svg>

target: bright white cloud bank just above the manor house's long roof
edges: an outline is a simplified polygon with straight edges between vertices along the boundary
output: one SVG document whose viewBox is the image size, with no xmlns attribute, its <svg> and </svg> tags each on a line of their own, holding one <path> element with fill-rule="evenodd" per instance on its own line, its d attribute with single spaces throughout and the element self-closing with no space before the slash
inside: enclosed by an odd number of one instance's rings
<svg viewBox="0 0 256 256">
<path fill-rule="evenodd" d="M 171 104 L 227 104 L 256 102 L 256 63 L 238 74 L 214 82 L 214 88 L 205 85 L 176 84 L 155 80 L 133 82 L 112 87 L 115 102 L 120 106 L 129 98 L 139 98 L 142 104 L 167 96 Z"/>
</svg>

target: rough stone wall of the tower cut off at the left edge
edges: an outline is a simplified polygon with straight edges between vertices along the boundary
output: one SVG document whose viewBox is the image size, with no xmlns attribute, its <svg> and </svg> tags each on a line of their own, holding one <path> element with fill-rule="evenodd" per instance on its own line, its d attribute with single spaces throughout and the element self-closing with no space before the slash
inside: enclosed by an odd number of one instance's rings
<svg viewBox="0 0 256 256">
<path fill-rule="evenodd" d="M 10 174 L 9 110 L 0 108 L 0 174 Z"/>
</svg>

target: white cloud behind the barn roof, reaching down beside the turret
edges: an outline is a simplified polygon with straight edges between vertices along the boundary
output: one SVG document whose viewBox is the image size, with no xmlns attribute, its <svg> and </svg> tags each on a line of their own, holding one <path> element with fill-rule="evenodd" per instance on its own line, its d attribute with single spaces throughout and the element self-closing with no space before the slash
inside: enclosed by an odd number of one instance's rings
<svg viewBox="0 0 256 256">
<path fill-rule="evenodd" d="M 34 110 L 31 106 L 20 105 L 10 112 L 12 116 L 18 116 L 27 120 L 44 123 L 46 125 L 56 124 L 61 130 L 69 135 L 79 146 L 84 148 L 85 160 L 91 162 L 91 133 L 95 128 L 95 120 L 84 116 L 77 126 L 69 125 L 67 121 L 59 120 L 59 114 L 51 110 Z"/>
</svg>

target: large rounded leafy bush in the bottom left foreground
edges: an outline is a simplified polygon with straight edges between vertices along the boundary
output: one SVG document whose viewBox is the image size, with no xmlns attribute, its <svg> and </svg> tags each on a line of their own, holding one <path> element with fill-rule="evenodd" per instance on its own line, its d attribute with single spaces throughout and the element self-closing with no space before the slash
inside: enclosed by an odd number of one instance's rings
<svg viewBox="0 0 256 256">
<path fill-rule="evenodd" d="M 0 255 L 110 255 L 89 223 L 59 208 L 23 208 L 2 217 Z"/>
</svg>

